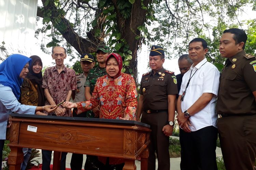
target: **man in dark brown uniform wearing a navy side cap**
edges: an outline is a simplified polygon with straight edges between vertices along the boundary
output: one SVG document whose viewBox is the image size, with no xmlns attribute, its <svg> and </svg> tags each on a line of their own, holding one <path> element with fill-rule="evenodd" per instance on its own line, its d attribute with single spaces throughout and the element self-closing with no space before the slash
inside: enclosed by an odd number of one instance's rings
<svg viewBox="0 0 256 170">
<path fill-rule="evenodd" d="M 175 98 L 178 93 L 174 72 L 165 70 L 165 52 L 160 46 L 152 46 L 149 56 L 151 72 L 142 75 L 137 121 L 151 127 L 148 170 L 170 169 L 169 136 L 172 135 L 175 115 Z"/>
</svg>

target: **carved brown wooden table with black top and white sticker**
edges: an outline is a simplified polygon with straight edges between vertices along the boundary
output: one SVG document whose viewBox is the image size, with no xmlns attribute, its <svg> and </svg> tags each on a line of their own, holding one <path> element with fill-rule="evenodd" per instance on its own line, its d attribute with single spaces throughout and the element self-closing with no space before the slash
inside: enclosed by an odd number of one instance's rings
<svg viewBox="0 0 256 170">
<path fill-rule="evenodd" d="M 10 170 L 20 170 L 22 148 L 54 151 L 53 169 L 59 170 L 60 153 L 80 153 L 125 159 L 123 170 L 147 170 L 150 126 L 131 120 L 12 114 L 9 131 Z"/>
</svg>

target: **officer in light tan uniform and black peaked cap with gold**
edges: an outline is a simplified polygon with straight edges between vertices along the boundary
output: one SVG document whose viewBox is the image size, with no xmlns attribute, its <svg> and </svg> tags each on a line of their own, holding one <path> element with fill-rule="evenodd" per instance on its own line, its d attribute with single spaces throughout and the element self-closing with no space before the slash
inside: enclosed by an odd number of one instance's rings
<svg viewBox="0 0 256 170">
<path fill-rule="evenodd" d="M 73 102 L 86 101 L 84 95 L 84 83 L 90 69 L 95 65 L 94 57 L 91 54 L 83 54 L 80 57 L 82 74 L 76 75 L 76 86 L 77 89 L 72 91 Z M 76 114 L 76 109 L 73 110 L 73 117 L 88 117 L 87 113 Z M 73 153 L 71 157 L 70 167 L 72 170 L 81 170 L 83 166 L 83 154 Z"/>
</svg>

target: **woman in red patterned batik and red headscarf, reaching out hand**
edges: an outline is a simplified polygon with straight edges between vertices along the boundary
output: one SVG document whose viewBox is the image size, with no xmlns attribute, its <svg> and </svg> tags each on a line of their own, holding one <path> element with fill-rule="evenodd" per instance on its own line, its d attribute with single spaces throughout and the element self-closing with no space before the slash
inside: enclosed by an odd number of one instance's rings
<svg viewBox="0 0 256 170">
<path fill-rule="evenodd" d="M 136 120 L 137 89 L 130 74 L 122 73 L 122 57 L 111 53 L 106 58 L 107 75 L 100 77 L 88 101 L 62 104 L 67 109 L 77 108 L 77 114 L 100 105 L 100 118 Z M 122 170 L 124 159 L 99 157 L 104 166 L 99 170 Z"/>
</svg>

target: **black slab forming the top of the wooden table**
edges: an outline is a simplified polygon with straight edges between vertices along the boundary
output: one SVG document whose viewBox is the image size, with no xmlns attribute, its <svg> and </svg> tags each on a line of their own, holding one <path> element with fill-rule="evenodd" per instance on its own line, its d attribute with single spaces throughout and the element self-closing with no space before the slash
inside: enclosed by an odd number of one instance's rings
<svg viewBox="0 0 256 170">
<path fill-rule="evenodd" d="M 12 113 L 11 116 L 19 118 L 37 118 L 37 119 L 52 119 L 52 120 L 76 120 L 87 122 L 106 122 L 106 123 L 120 123 L 120 124 L 137 124 L 150 128 L 150 125 L 141 123 L 134 120 L 119 120 L 119 119 L 99 119 L 99 118 L 84 118 L 84 117 L 63 117 L 63 116 L 44 116 L 44 115 L 30 115 L 30 114 L 18 114 Z"/>
</svg>

